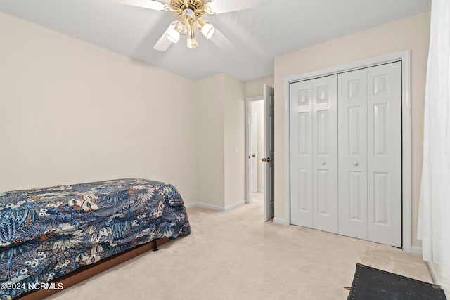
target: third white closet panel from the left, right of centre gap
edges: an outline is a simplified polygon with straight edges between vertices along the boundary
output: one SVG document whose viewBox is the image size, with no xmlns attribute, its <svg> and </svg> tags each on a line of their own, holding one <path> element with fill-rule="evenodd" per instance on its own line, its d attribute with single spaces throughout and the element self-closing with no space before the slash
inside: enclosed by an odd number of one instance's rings
<svg viewBox="0 0 450 300">
<path fill-rule="evenodd" d="M 339 233 L 367 240 L 367 69 L 338 79 Z"/>
</svg>

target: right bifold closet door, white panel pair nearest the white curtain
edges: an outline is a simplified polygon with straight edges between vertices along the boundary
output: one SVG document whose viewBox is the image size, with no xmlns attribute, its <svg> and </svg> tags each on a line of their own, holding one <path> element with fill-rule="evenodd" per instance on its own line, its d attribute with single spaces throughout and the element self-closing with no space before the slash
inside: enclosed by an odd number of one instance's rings
<svg viewBox="0 0 450 300">
<path fill-rule="evenodd" d="M 338 80 L 339 233 L 401 247 L 401 63 Z"/>
</svg>

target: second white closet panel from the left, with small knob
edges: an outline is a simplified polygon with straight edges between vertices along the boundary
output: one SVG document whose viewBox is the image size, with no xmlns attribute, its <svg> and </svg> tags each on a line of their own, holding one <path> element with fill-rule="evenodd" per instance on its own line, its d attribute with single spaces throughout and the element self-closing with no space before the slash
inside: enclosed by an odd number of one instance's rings
<svg viewBox="0 0 450 300">
<path fill-rule="evenodd" d="M 338 75 L 312 82 L 313 226 L 338 233 Z"/>
</svg>

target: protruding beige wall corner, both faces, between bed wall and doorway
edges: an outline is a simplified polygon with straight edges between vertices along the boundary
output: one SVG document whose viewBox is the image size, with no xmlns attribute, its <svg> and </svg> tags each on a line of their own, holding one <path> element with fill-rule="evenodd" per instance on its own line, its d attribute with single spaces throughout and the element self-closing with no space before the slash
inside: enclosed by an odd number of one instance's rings
<svg viewBox="0 0 450 300">
<path fill-rule="evenodd" d="M 195 82 L 198 205 L 228 209 L 245 197 L 245 94 L 217 74 Z"/>
</svg>

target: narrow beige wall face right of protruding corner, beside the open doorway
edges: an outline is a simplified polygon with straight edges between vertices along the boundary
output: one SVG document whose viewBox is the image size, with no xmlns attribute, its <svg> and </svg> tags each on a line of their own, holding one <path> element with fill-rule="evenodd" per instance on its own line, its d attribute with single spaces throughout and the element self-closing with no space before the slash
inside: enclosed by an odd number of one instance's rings
<svg viewBox="0 0 450 300">
<path fill-rule="evenodd" d="M 224 89 L 225 207 L 229 207 L 245 200 L 244 83 L 225 74 Z"/>
</svg>

